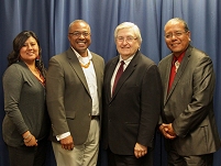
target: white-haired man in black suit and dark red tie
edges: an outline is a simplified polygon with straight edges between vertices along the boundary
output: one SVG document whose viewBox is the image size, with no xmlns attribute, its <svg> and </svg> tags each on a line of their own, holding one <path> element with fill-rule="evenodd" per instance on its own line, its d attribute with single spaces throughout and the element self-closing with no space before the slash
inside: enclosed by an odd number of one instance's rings
<svg viewBox="0 0 221 166">
<path fill-rule="evenodd" d="M 152 166 L 162 102 L 158 68 L 140 52 L 142 37 L 137 25 L 118 25 L 114 38 L 120 55 L 106 65 L 103 80 L 101 129 L 108 164 Z"/>
</svg>

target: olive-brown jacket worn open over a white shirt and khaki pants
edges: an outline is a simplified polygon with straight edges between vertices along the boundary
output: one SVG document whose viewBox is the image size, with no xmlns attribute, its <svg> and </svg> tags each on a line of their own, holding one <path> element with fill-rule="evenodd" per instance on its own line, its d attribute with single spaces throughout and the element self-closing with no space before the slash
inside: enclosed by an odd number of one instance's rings
<svg viewBox="0 0 221 166">
<path fill-rule="evenodd" d="M 103 58 L 92 54 L 100 115 Z M 71 48 L 51 58 L 46 77 L 47 109 L 53 136 L 70 132 L 75 145 L 86 142 L 91 121 L 92 99 L 77 56 Z M 53 141 L 56 141 L 55 137 Z"/>
</svg>

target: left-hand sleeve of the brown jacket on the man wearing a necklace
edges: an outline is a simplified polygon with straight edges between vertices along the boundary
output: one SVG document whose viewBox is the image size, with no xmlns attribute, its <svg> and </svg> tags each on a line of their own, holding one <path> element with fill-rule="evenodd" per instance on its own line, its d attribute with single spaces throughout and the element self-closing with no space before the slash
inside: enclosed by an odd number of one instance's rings
<svg viewBox="0 0 221 166">
<path fill-rule="evenodd" d="M 62 65 L 52 57 L 46 76 L 46 101 L 54 135 L 69 132 L 64 106 L 64 69 Z"/>
</svg>

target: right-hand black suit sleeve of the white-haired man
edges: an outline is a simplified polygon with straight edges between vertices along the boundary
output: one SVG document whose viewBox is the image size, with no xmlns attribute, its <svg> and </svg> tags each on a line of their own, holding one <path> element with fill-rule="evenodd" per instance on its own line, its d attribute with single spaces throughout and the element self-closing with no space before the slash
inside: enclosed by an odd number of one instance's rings
<svg viewBox="0 0 221 166">
<path fill-rule="evenodd" d="M 162 104 L 162 81 L 156 65 L 147 68 L 141 91 L 141 121 L 137 143 L 152 147 Z"/>
</svg>

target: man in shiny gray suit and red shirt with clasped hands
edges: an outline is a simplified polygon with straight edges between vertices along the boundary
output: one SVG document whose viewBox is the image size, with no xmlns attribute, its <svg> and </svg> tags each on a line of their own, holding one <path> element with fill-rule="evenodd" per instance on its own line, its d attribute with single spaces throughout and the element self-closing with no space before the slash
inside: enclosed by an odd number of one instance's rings
<svg viewBox="0 0 221 166">
<path fill-rule="evenodd" d="M 159 130 L 166 137 L 168 166 L 212 166 L 213 153 L 220 148 L 212 60 L 190 45 L 184 20 L 169 20 L 164 31 L 172 54 L 158 65 L 164 90 Z"/>
</svg>

